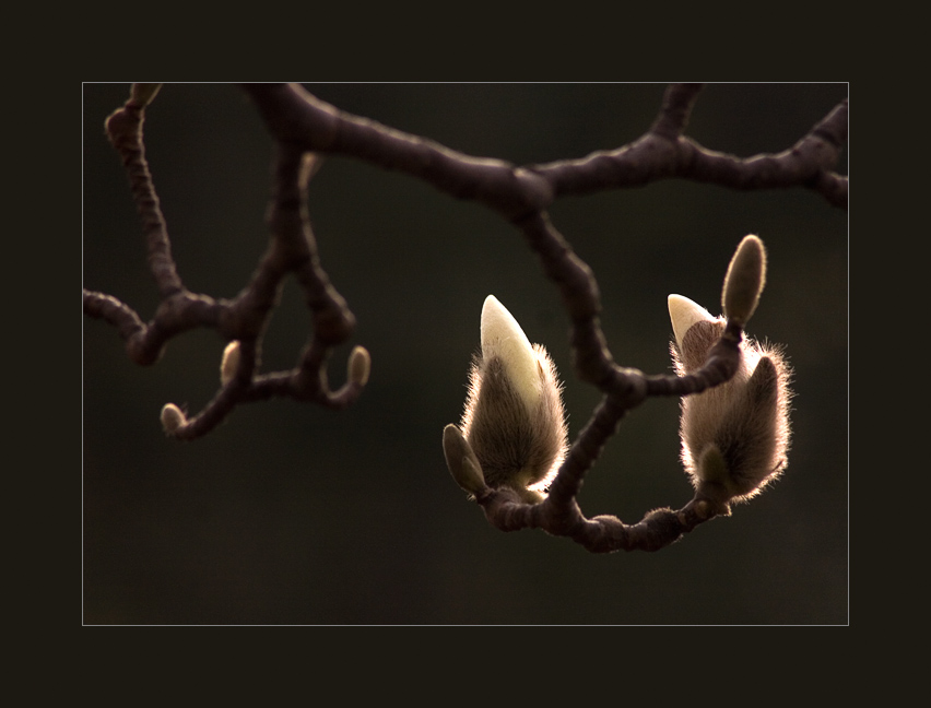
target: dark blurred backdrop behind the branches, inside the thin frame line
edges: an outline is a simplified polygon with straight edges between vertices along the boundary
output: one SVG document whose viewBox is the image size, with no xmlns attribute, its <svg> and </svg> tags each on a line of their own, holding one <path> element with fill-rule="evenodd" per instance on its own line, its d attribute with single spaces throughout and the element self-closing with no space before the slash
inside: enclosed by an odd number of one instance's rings
<svg viewBox="0 0 931 708">
<path fill-rule="evenodd" d="M 660 84 L 308 84 L 343 110 L 474 156 L 517 164 L 631 142 Z M 84 86 L 83 285 L 152 316 L 155 288 L 105 117 L 128 84 Z M 846 84 L 714 84 L 687 133 L 750 156 L 789 148 Z M 271 142 L 232 85 L 169 84 L 145 142 L 181 278 L 232 297 L 266 247 Z M 846 160 L 840 170 L 846 173 Z M 116 331 L 84 321 L 83 606 L 86 624 L 846 624 L 848 621 L 847 213 L 805 189 L 738 192 L 670 180 L 566 198 L 555 226 L 588 262 L 615 358 L 670 370 L 665 298 L 717 314 L 740 239 L 758 234 L 769 273 L 749 332 L 794 367 L 785 476 L 732 517 L 659 553 L 593 555 L 542 531 L 502 533 L 446 470 L 482 302 L 494 293 L 566 379 L 570 435 L 598 393 L 573 378 L 555 287 L 493 212 L 402 174 L 331 157 L 310 214 L 323 267 L 358 326 L 372 379 L 351 409 L 271 400 L 207 437 L 164 436 L 166 402 L 199 411 L 225 342 L 173 340 L 150 368 Z M 262 370 L 294 365 L 309 316 L 293 282 Z M 680 507 L 677 401 L 648 400 L 586 479 L 588 516 L 638 521 Z"/>
</svg>

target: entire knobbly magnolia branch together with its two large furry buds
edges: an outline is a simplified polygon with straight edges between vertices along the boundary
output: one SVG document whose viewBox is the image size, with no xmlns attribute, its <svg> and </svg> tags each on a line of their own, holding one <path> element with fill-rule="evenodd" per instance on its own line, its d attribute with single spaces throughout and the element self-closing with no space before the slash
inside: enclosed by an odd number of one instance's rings
<svg viewBox="0 0 931 708">
<path fill-rule="evenodd" d="M 141 365 L 155 363 L 172 338 L 196 327 L 215 329 L 227 342 L 217 394 L 191 418 L 166 404 L 162 424 L 168 435 L 199 437 L 236 405 L 271 397 L 342 409 L 361 394 L 370 357 L 360 346 L 350 354 L 346 382 L 335 391 L 328 385 L 327 362 L 352 335 L 355 318 L 320 264 L 306 199 L 322 156 L 343 155 L 422 179 L 514 224 L 561 294 L 575 376 L 602 394 L 569 445 L 555 366 L 494 300 L 488 322 L 495 323 L 490 324 L 486 351 L 483 332 L 483 356 L 474 365 L 467 411 L 458 426 L 447 425 L 443 433 L 450 473 L 494 527 L 543 529 L 592 552 L 655 551 L 716 516 L 729 515 L 733 504 L 753 497 L 785 469 L 788 366 L 778 350 L 744 337 L 765 283 L 762 240 L 747 236 L 738 247 L 724 279 L 723 317 L 670 296 L 676 373 L 646 375 L 614 361 L 600 324 L 594 274 L 554 227 L 546 209 L 561 197 L 669 178 L 739 190 L 803 187 L 846 209 L 848 178 L 836 168 L 847 140 L 847 101 L 789 149 L 741 158 L 708 150 L 685 134 L 702 85 L 673 84 L 656 120 L 631 144 L 576 160 L 518 166 L 464 155 L 352 116 L 296 84 L 246 84 L 241 88 L 276 145 L 267 217 L 271 237 L 251 281 L 225 300 L 189 292 L 172 258 L 142 130 L 160 87 L 133 84 L 129 99 L 106 125 L 129 177 L 162 303 L 144 322 L 111 295 L 84 290 L 83 302 L 87 316 L 116 328 L 130 358 Z M 283 280 L 292 275 L 305 294 L 314 331 L 295 368 L 259 374 L 268 319 Z M 682 461 L 693 498 L 679 510 L 650 511 L 634 524 L 613 516 L 586 518 L 577 504 L 586 473 L 627 412 L 657 396 L 682 397 Z"/>
</svg>

